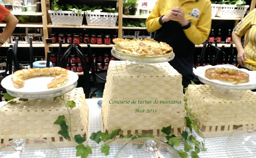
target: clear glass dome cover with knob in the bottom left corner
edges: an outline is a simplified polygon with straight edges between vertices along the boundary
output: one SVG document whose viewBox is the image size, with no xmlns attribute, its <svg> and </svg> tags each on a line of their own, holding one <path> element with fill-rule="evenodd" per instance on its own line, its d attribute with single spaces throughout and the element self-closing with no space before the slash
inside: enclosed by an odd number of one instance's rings
<svg viewBox="0 0 256 158">
<path fill-rule="evenodd" d="M 58 149 L 41 138 L 20 138 L 1 144 L 0 158 L 61 158 Z"/>
</svg>

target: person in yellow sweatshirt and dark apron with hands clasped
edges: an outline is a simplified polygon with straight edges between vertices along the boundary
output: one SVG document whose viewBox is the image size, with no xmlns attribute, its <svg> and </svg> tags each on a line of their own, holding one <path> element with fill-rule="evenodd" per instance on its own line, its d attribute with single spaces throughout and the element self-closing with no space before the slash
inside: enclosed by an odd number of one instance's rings
<svg viewBox="0 0 256 158">
<path fill-rule="evenodd" d="M 211 15 L 210 0 L 157 0 L 146 20 L 147 31 L 156 31 L 154 40 L 173 48 L 175 58 L 169 63 L 182 74 L 184 88 L 194 78 L 195 44 L 208 38 Z"/>
</svg>

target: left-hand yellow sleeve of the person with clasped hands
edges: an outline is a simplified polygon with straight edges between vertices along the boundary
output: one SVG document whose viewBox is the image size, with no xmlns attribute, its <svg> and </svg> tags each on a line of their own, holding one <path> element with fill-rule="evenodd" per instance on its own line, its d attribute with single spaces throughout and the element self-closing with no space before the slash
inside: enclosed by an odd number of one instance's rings
<svg viewBox="0 0 256 158">
<path fill-rule="evenodd" d="M 159 18 L 161 16 L 159 13 L 160 4 L 161 4 L 161 0 L 157 0 L 154 8 L 150 12 L 150 15 L 146 20 L 146 29 L 148 32 L 154 32 L 162 27 L 162 25 L 159 23 Z"/>
</svg>

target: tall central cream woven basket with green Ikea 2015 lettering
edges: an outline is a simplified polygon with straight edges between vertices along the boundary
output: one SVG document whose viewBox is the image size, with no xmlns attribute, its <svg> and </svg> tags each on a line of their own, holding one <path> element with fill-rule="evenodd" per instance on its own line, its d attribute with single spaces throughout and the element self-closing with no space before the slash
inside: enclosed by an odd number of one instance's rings
<svg viewBox="0 0 256 158">
<path fill-rule="evenodd" d="M 172 133 L 180 135 L 186 126 L 182 75 L 168 62 L 154 64 L 158 71 L 145 75 L 127 72 L 128 64 L 131 63 L 110 61 L 102 101 L 103 131 L 111 133 L 121 128 L 124 135 L 148 132 L 162 136 L 162 127 L 172 125 Z M 156 99 L 158 104 L 153 104 Z M 130 103 L 110 104 L 110 100 Z M 138 100 L 152 103 L 139 103 Z M 160 104 L 161 100 L 178 100 L 180 104 Z M 135 112 L 138 108 L 144 112 Z"/>
</svg>

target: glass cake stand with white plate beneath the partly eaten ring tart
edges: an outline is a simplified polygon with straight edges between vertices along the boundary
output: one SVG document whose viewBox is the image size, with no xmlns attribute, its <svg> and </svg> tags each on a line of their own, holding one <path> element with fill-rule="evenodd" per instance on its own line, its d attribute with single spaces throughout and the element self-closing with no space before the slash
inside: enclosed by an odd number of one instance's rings
<svg viewBox="0 0 256 158">
<path fill-rule="evenodd" d="M 62 87 L 47 89 L 47 83 L 49 83 L 54 77 L 40 76 L 26 79 L 25 86 L 23 88 L 17 89 L 12 83 L 12 75 L 6 76 L 2 80 L 2 86 L 11 96 L 29 99 L 27 101 L 28 106 L 34 106 L 38 104 L 44 107 L 52 106 L 53 97 L 62 96 L 63 94 L 66 94 L 76 88 L 78 80 L 78 75 L 75 72 L 68 70 L 68 83 Z"/>
</svg>

